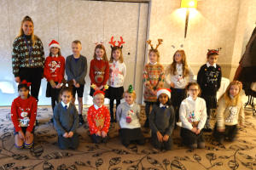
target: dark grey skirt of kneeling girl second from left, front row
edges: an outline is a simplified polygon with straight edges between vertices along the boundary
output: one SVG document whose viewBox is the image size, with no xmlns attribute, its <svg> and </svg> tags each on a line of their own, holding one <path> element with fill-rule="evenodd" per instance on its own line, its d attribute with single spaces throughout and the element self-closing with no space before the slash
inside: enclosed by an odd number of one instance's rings
<svg viewBox="0 0 256 170">
<path fill-rule="evenodd" d="M 58 144 L 61 150 L 75 150 L 79 147 L 79 134 L 73 133 L 72 138 L 64 138 L 62 135 L 59 135 Z"/>
</svg>

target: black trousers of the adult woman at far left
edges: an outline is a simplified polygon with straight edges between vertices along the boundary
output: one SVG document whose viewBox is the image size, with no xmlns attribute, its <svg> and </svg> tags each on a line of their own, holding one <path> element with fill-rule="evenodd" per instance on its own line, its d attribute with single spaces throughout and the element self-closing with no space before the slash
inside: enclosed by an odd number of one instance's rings
<svg viewBox="0 0 256 170">
<path fill-rule="evenodd" d="M 43 68 L 20 68 L 20 81 L 26 80 L 31 82 L 31 95 L 38 99 L 39 89 L 41 86 L 41 79 L 43 76 Z"/>
</svg>

